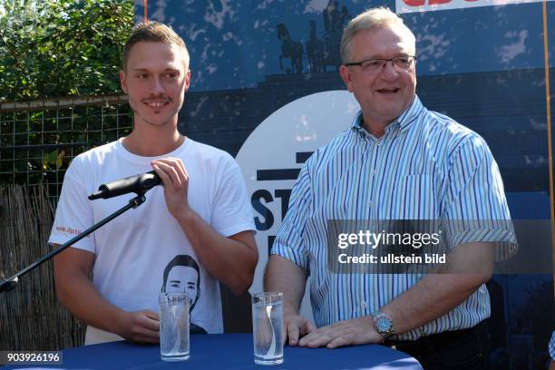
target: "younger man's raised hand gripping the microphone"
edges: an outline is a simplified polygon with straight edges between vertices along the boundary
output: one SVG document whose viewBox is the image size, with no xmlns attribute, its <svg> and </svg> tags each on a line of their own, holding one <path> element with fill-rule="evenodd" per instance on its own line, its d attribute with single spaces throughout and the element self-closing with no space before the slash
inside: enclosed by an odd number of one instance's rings
<svg viewBox="0 0 555 370">
<path fill-rule="evenodd" d="M 151 165 L 164 184 L 164 198 L 170 214 L 177 218 L 183 211 L 190 210 L 187 200 L 189 174 L 183 162 L 176 158 L 164 158 L 152 161 Z"/>
</svg>

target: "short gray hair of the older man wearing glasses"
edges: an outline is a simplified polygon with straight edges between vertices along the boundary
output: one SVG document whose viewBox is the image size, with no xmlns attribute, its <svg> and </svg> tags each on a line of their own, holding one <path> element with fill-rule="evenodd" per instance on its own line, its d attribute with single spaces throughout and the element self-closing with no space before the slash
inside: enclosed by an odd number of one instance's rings
<svg viewBox="0 0 555 370">
<path fill-rule="evenodd" d="M 353 37 L 355 37 L 358 31 L 387 27 L 400 27 L 404 29 L 414 39 L 414 44 L 416 43 L 413 32 L 404 24 L 403 18 L 399 15 L 394 14 L 389 8 L 383 6 L 368 9 L 360 15 L 356 15 L 355 18 L 346 24 L 343 36 L 341 37 L 341 63 L 351 62 L 349 61 L 351 56 L 350 46 Z"/>
</svg>

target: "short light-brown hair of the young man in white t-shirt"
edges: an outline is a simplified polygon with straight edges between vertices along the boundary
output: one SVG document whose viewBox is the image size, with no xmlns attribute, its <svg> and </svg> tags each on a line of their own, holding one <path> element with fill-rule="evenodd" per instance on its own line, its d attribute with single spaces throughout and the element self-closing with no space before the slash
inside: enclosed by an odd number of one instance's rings
<svg viewBox="0 0 555 370">
<path fill-rule="evenodd" d="M 187 45 L 180 37 L 176 34 L 173 29 L 166 24 L 161 24 L 155 21 L 149 21 L 145 23 L 137 24 L 131 30 L 131 34 L 127 38 L 125 45 L 123 46 L 122 53 L 122 69 L 127 71 L 127 60 L 129 59 L 129 54 L 133 46 L 140 42 L 151 42 L 151 43 L 164 43 L 164 44 L 176 44 L 183 49 L 183 60 L 185 62 L 186 69 L 189 68 L 189 51 L 187 50 Z"/>
</svg>

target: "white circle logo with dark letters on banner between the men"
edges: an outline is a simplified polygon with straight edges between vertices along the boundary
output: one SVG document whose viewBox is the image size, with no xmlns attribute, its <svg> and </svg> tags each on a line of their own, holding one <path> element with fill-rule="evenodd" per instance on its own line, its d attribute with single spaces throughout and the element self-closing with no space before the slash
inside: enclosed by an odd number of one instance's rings
<svg viewBox="0 0 555 370">
<path fill-rule="evenodd" d="M 348 129 L 359 110 L 355 97 L 346 90 L 307 95 L 273 112 L 239 150 L 236 160 L 257 227 L 258 266 L 251 293 L 264 289 L 269 248 L 287 212 L 300 168 L 312 152 Z M 301 314 L 312 319 L 307 294 Z"/>
</svg>

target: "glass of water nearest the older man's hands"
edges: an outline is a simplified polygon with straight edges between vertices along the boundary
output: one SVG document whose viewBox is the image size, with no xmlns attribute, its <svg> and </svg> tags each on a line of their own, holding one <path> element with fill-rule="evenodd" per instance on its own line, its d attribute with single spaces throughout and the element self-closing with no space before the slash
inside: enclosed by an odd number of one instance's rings
<svg viewBox="0 0 555 370">
<path fill-rule="evenodd" d="M 258 365 L 283 363 L 283 293 L 252 296 L 254 359 Z"/>
</svg>

